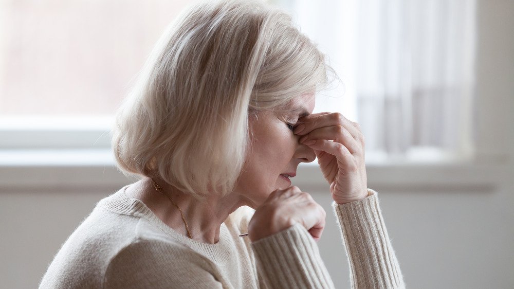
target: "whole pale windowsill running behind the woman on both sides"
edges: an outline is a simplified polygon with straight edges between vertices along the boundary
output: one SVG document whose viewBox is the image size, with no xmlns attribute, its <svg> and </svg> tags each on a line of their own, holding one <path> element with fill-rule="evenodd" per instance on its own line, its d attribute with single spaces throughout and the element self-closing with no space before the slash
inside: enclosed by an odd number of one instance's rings
<svg viewBox="0 0 514 289">
<path fill-rule="evenodd" d="M 505 177 L 500 162 L 366 162 L 368 186 L 385 191 L 490 192 Z M 0 151 L 0 192 L 114 190 L 133 182 L 118 171 L 108 149 Z M 302 164 L 293 185 L 328 190 L 315 163 Z"/>
</svg>

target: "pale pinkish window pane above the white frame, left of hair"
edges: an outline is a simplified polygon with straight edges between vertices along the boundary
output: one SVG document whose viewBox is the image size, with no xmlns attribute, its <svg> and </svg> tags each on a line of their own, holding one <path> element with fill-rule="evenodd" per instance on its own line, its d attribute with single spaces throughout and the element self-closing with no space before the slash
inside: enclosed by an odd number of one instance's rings
<svg viewBox="0 0 514 289">
<path fill-rule="evenodd" d="M 113 115 L 191 1 L 0 1 L 0 116 Z"/>
</svg>

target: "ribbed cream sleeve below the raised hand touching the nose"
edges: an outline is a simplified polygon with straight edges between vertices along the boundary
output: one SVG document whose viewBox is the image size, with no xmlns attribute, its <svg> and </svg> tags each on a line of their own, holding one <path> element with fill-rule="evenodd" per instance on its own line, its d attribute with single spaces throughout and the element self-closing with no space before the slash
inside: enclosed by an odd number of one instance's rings
<svg viewBox="0 0 514 289">
<path fill-rule="evenodd" d="M 346 244 L 355 288 L 404 288 L 400 266 L 384 225 L 377 193 L 351 203 L 333 203 Z"/>
</svg>

